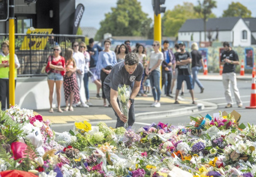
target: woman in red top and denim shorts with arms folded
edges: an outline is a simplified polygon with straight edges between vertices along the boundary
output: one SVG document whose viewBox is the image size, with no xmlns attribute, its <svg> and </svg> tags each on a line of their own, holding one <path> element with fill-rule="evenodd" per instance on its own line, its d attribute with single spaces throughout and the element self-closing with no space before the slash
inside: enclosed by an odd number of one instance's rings
<svg viewBox="0 0 256 177">
<path fill-rule="evenodd" d="M 50 113 L 53 113 L 52 109 L 52 95 L 54 90 L 54 83 L 56 84 L 57 92 L 57 103 L 58 103 L 58 112 L 62 113 L 63 111 L 60 108 L 61 100 L 61 86 L 63 83 L 63 75 L 65 74 L 65 58 L 60 56 L 61 48 L 56 45 L 53 47 L 54 54 L 48 57 L 48 66 L 46 73 L 48 73 L 47 80 L 50 90 L 49 100 L 50 100 Z"/>
</svg>

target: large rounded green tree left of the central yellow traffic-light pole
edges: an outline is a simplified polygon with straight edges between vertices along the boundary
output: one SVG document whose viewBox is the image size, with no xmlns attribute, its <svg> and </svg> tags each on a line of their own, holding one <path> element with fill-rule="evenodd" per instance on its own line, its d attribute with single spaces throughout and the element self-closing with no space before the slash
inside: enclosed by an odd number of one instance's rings
<svg viewBox="0 0 256 177">
<path fill-rule="evenodd" d="M 137 0 L 118 0 L 117 7 L 112 7 L 111 10 L 100 22 L 97 39 L 102 39 L 105 33 L 111 33 L 113 36 L 149 35 L 152 19 L 141 10 Z"/>
</svg>

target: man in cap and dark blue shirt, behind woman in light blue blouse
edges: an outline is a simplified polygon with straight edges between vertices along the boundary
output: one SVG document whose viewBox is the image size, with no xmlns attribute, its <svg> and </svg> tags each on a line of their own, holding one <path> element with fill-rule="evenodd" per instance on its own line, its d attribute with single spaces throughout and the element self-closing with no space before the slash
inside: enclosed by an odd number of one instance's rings
<svg viewBox="0 0 256 177">
<path fill-rule="evenodd" d="M 99 52 L 103 49 L 98 45 L 94 44 L 94 39 L 89 39 L 89 45 L 87 46 L 87 51 L 90 53 L 90 71 L 93 73 L 93 76 L 91 76 L 91 81 L 93 81 L 97 86 L 97 98 L 100 98 L 100 88 L 101 88 L 101 82 L 100 82 L 100 73 L 97 72 L 96 64 L 99 57 Z"/>
</svg>

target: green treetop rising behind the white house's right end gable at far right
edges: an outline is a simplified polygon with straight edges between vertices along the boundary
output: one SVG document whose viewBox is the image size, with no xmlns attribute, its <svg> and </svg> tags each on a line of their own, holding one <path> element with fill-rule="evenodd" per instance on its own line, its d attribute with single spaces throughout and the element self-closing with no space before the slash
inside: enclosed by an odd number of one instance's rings
<svg viewBox="0 0 256 177">
<path fill-rule="evenodd" d="M 251 11 L 240 2 L 232 2 L 228 9 L 223 11 L 223 17 L 251 17 Z"/>
</svg>

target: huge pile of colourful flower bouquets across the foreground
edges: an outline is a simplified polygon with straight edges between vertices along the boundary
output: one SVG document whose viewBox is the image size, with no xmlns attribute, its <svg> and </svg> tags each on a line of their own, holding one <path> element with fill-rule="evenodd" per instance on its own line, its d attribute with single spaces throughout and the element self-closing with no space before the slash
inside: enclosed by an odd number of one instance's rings
<svg viewBox="0 0 256 177">
<path fill-rule="evenodd" d="M 188 126 L 159 122 L 137 131 L 83 121 L 55 136 L 49 121 L 15 105 L 0 111 L 0 175 L 8 170 L 41 177 L 256 175 L 255 125 L 239 125 L 233 114 L 190 119 Z"/>
</svg>

